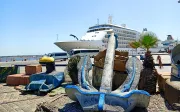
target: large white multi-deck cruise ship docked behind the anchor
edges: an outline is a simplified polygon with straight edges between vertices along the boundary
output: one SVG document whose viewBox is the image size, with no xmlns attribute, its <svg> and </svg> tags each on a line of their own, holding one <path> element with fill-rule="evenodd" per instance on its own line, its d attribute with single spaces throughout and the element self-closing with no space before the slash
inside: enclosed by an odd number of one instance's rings
<svg viewBox="0 0 180 112">
<path fill-rule="evenodd" d="M 86 34 L 82 36 L 80 40 L 76 41 L 63 41 L 55 42 L 59 48 L 66 52 L 70 52 L 72 49 L 99 49 L 104 50 L 107 48 L 108 43 L 108 31 L 114 31 L 118 35 L 118 51 L 127 51 L 129 54 L 138 53 L 144 54 L 145 50 L 139 48 L 136 52 L 129 46 L 129 42 L 138 40 L 140 37 L 140 32 L 126 28 L 125 24 L 121 26 L 112 24 L 112 18 L 109 17 L 108 24 L 97 24 L 95 26 L 89 27 Z M 161 43 L 159 43 L 161 44 Z M 161 45 L 159 47 L 150 49 L 152 52 L 159 52 L 161 50 Z M 134 51 L 134 52 L 133 52 Z"/>
</svg>

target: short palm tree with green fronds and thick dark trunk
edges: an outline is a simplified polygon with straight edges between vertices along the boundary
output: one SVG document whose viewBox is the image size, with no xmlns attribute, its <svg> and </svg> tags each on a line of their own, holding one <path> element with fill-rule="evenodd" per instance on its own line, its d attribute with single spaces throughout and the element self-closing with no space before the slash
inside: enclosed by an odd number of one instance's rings
<svg viewBox="0 0 180 112">
<path fill-rule="evenodd" d="M 145 90 L 149 93 L 156 92 L 157 72 L 154 65 L 154 59 L 151 55 L 150 48 L 157 45 L 158 38 L 153 32 L 145 32 L 140 35 L 140 47 L 146 49 L 143 69 L 141 71 L 138 89 Z M 139 45 L 137 44 L 137 45 Z M 133 46 L 132 46 L 133 45 Z M 131 47 L 135 48 L 136 42 L 131 43 Z"/>
</svg>

